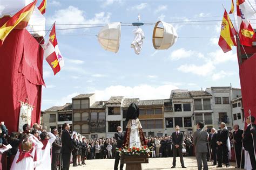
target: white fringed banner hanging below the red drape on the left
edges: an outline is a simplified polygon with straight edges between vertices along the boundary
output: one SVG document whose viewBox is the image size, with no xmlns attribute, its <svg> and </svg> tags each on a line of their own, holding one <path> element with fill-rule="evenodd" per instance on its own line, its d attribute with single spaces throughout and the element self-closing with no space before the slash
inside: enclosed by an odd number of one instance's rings
<svg viewBox="0 0 256 170">
<path fill-rule="evenodd" d="M 33 108 L 26 104 L 26 103 L 21 103 L 21 109 L 19 111 L 19 131 L 22 132 L 22 126 L 26 123 L 29 125 L 31 124 L 31 113 L 32 113 Z"/>
</svg>

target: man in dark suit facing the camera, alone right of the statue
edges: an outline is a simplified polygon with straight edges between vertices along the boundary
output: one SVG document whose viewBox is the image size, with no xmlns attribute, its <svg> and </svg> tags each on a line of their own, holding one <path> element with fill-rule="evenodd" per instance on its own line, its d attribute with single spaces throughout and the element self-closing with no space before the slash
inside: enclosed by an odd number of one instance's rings
<svg viewBox="0 0 256 170">
<path fill-rule="evenodd" d="M 176 167 L 176 157 L 177 157 L 178 152 L 179 152 L 181 167 L 186 168 L 184 166 L 184 160 L 183 160 L 183 154 L 182 154 L 183 133 L 179 131 L 179 126 L 178 125 L 175 128 L 176 128 L 176 132 L 172 133 L 173 161 L 172 161 L 172 167 L 171 168 Z"/>
</svg>

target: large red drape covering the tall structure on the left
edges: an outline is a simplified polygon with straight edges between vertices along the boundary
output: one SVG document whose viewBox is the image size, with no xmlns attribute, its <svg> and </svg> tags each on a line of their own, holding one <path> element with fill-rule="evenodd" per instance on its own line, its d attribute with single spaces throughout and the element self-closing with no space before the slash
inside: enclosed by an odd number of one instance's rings
<svg viewBox="0 0 256 170">
<path fill-rule="evenodd" d="M 0 26 L 3 23 L 0 22 Z M 31 124 L 41 114 L 43 48 L 26 30 L 12 30 L 0 47 L 0 121 L 9 132 L 18 130 L 19 101 L 35 106 Z"/>
</svg>

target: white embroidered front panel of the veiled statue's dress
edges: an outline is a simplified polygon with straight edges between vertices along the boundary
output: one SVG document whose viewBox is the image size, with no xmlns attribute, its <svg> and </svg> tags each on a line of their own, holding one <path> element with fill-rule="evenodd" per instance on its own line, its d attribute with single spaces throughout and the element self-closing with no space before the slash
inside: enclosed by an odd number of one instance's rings
<svg viewBox="0 0 256 170">
<path fill-rule="evenodd" d="M 139 139 L 139 128 L 136 120 L 132 119 L 131 121 L 131 129 L 130 129 L 130 148 L 133 146 L 141 148 L 142 145 L 140 144 Z"/>
</svg>

